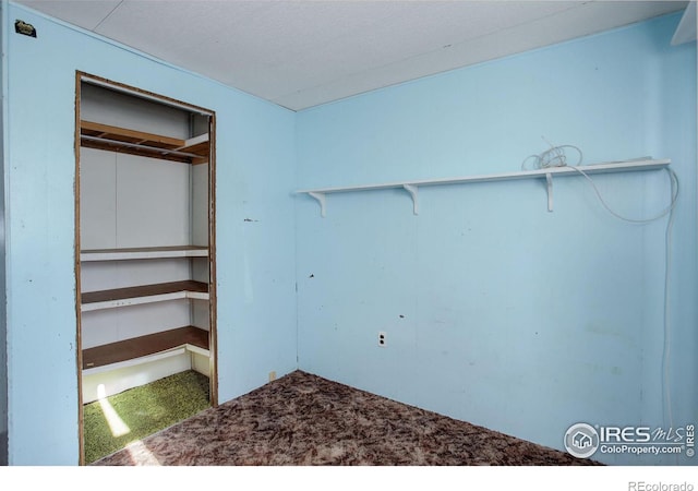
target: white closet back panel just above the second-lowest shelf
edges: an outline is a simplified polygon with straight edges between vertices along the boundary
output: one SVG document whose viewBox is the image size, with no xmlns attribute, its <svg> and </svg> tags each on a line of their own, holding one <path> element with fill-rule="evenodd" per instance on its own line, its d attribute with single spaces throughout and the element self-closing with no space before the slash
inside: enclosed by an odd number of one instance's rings
<svg viewBox="0 0 698 491">
<path fill-rule="evenodd" d="M 159 259 L 83 263 L 82 290 L 108 290 L 190 279 L 190 261 L 189 259 Z"/>
</svg>

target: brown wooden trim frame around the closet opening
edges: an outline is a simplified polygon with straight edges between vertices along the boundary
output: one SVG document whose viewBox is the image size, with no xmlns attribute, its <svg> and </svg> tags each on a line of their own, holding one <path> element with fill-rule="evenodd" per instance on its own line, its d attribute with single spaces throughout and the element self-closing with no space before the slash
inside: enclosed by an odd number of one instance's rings
<svg viewBox="0 0 698 491">
<path fill-rule="evenodd" d="M 216 113 L 210 109 L 205 109 L 167 96 L 155 94 L 131 85 L 115 82 L 101 76 L 93 75 L 82 71 L 75 71 L 75 312 L 76 312 L 76 345 L 77 345 L 77 402 L 79 402 L 79 442 L 80 442 L 80 465 L 85 465 L 84 445 L 84 412 L 83 412 L 83 349 L 82 349 L 82 299 L 81 299 L 81 229 L 80 229 L 80 154 L 81 154 L 81 86 L 82 83 L 93 83 L 106 88 L 110 88 L 122 94 L 140 97 L 145 100 L 163 104 L 165 106 L 177 107 L 183 110 L 198 112 L 208 116 L 208 351 L 213 356 L 209 374 L 209 402 L 213 407 L 218 406 L 218 349 L 217 349 L 217 296 L 216 296 Z M 105 148 L 108 149 L 108 148 Z M 178 160 L 174 155 L 172 160 Z M 179 159 L 178 161 L 183 161 Z M 196 164 L 195 157 L 190 160 Z"/>
</svg>

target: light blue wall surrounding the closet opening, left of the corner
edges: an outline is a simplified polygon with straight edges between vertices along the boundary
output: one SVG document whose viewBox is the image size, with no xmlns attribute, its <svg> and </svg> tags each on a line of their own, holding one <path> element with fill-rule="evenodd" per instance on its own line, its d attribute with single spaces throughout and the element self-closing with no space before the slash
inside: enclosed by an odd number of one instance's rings
<svg viewBox="0 0 698 491">
<path fill-rule="evenodd" d="M 9 13 L 5 26 L 37 29 L 9 37 L 10 464 L 79 462 L 76 70 L 216 111 L 219 402 L 294 370 L 294 113 L 21 7 Z"/>
</svg>

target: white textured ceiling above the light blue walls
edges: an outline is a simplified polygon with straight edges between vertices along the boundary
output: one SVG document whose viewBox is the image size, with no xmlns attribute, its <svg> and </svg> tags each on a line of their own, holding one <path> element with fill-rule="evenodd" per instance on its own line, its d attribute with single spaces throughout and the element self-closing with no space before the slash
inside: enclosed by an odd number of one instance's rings
<svg viewBox="0 0 698 491">
<path fill-rule="evenodd" d="M 666 0 L 16 3 L 293 110 L 684 10 L 687 4 Z"/>
</svg>

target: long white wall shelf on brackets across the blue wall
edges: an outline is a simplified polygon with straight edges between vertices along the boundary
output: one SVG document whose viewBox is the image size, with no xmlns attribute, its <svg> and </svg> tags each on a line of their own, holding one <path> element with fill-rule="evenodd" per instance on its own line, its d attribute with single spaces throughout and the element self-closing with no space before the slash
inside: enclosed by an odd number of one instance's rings
<svg viewBox="0 0 698 491">
<path fill-rule="evenodd" d="M 577 169 L 587 175 L 605 172 L 630 172 L 638 170 L 658 170 L 667 167 L 670 159 L 643 158 L 637 160 L 611 161 L 585 165 L 579 167 L 549 167 L 546 169 L 520 170 L 516 172 L 489 173 L 481 176 L 466 176 L 446 179 L 423 179 L 416 181 L 397 181 L 381 184 L 347 185 L 335 188 L 304 189 L 296 191 L 297 194 L 308 194 L 320 204 L 320 212 L 326 216 L 326 194 L 344 193 L 354 191 L 375 191 L 385 189 L 404 189 L 412 197 L 413 213 L 419 214 L 419 187 L 420 185 L 444 185 L 444 184 L 467 184 L 473 182 L 512 181 L 518 179 L 545 179 L 547 181 L 547 211 L 553 211 L 553 177 L 559 176 L 582 176 Z"/>
</svg>

